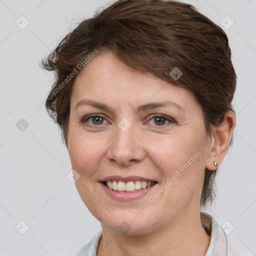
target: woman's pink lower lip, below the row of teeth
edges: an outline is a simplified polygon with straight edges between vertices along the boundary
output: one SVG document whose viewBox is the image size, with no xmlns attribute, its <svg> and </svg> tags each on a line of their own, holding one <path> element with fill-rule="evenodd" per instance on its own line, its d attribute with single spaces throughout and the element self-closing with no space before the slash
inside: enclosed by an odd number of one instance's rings
<svg viewBox="0 0 256 256">
<path fill-rule="evenodd" d="M 117 199 L 119 201 L 131 201 L 135 200 L 145 194 L 147 194 L 157 183 L 145 188 L 145 189 L 140 189 L 138 191 L 134 192 L 120 192 L 120 191 L 115 191 L 107 186 L 105 186 L 102 182 L 99 182 L 104 191 L 110 195 L 112 198 Z"/>
</svg>

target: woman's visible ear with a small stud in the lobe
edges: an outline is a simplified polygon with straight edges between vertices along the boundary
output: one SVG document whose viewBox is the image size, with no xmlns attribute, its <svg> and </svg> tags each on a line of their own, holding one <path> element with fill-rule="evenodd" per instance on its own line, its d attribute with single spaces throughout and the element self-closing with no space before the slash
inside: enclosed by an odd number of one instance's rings
<svg viewBox="0 0 256 256">
<path fill-rule="evenodd" d="M 214 134 L 211 136 L 208 158 L 205 165 L 205 168 L 208 170 L 215 170 L 219 167 L 228 150 L 234 127 L 235 115 L 233 111 L 228 110 L 223 122 L 219 127 L 214 128 Z M 217 166 L 214 166 L 214 161 L 217 162 Z"/>
</svg>

